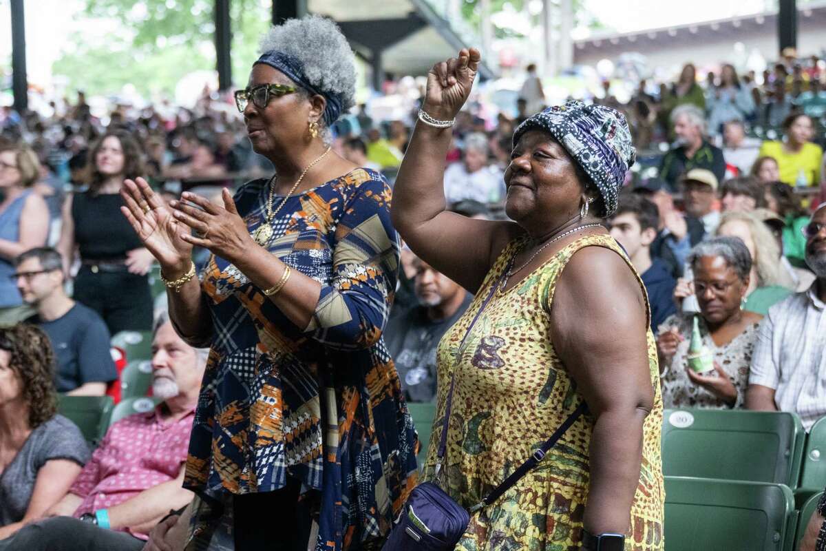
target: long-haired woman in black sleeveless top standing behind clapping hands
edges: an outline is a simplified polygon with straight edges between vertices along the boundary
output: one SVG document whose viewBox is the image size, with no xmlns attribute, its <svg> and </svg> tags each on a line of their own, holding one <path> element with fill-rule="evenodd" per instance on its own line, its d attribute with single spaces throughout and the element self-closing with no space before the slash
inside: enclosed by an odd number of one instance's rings
<svg viewBox="0 0 826 551">
<path fill-rule="evenodd" d="M 67 273 L 80 254 L 74 299 L 97 311 L 109 332 L 150 330 L 152 295 L 146 276 L 152 255 L 121 214 L 121 184 L 143 174 L 139 145 L 121 131 L 110 131 L 89 155 L 92 178 L 87 192 L 64 204 L 58 249 Z"/>
</svg>

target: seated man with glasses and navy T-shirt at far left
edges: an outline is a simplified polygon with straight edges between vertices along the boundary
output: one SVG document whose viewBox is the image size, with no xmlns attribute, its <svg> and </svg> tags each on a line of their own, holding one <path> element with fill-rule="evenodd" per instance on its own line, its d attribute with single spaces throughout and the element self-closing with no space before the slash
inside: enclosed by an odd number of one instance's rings
<svg viewBox="0 0 826 551">
<path fill-rule="evenodd" d="M 58 392 L 102 396 L 117 378 L 109 331 L 95 311 L 74 302 L 63 288 L 63 264 L 55 249 L 27 250 L 15 260 L 17 288 L 37 310 L 28 321 L 49 335 L 55 350 Z"/>
</svg>

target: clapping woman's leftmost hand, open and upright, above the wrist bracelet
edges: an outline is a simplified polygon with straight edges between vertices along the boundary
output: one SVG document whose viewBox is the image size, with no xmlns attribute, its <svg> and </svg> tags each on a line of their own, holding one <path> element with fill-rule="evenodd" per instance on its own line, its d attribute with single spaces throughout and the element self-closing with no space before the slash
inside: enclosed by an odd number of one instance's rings
<svg viewBox="0 0 826 551">
<path fill-rule="evenodd" d="M 144 178 L 126 180 L 121 189 L 126 207 L 121 207 L 146 249 L 158 260 L 167 277 L 183 274 L 192 259 L 192 244 L 181 239 L 187 226 L 172 216 L 160 196 Z"/>
</svg>

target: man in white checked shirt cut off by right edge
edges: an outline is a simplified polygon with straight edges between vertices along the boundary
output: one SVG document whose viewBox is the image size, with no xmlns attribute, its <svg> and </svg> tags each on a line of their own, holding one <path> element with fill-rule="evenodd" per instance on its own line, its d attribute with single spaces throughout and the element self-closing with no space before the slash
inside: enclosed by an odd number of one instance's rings
<svg viewBox="0 0 826 551">
<path fill-rule="evenodd" d="M 803 228 L 806 264 L 817 277 L 806 292 L 771 306 L 757 334 L 746 407 L 794 411 L 809 430 L 826 415 L 826 203 Z"/>
</svg>

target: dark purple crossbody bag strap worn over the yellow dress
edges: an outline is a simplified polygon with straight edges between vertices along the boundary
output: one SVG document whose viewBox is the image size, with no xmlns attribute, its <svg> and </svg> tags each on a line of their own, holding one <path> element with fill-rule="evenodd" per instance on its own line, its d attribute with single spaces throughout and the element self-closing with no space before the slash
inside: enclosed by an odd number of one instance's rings
<svg viewBox="0 0 826 551">
<path fill-rule="evenodd" d="M 479 317 L 482 316 L 482 311 L 485 310 L 488 303 L 491 302 L 491 298 L 493 298 L 494 293 L 496 290 L 501 286 L 502 282 L 505 280 L 505 276 L 510 270 L 510 265 L 513 263 L 514 258 L 510 259 L 510 262 L 506 265 L 505 270 L 502 272 L 502 275 L 496 279 L 496 283 L 491 285 L 491 292 L 487 294 L 485 301 L 482 302 L 482 306 L 479 307 L 479 310 L 476 312 L 476 316 L 473 316 L 473 320 L 468 325 L 468 330 L 465 331 L 464 336 L 462 337 L 462 342 L 459 344 L 459 350 L 463 349 L 465 344 L 465 340 L 468 340 L 468 335 L 470 335 L 470 331 L 473 329 L 473 326 L 476 325 L 476 322 L 479 320 Z M 448 391 L 448 400 L 444 406 L 444 420 L 442 421 L 442 434 L 439 435 L 439 451 L 436 454 L 436 468 L 434 477 L 438 480 L 439 473 L 442 469 L 442 463 L 444 462 L 444 456 L 447 454 L 448 449 L 448 425 L 450 422 L 450 411 L 453 406 L 453 388 L 456 385 L 456 373 L 454 368 L 453 376 L 450 378 L 450 390 Z M 529 470 L 536 467 L 540 461 L 545 457 L 545 454 L 548 454 L 548 450 L 553 448 L 553 445 L 557 443 L 558 439 L 562 438 L 571 425 L 573 425 L 583 413 L 588 411 L 587 404 L 583 401 L 573 413 L 567 417 L 567 419 L 563 422 L 562 425 L 559 425 L 559 428 L 551 435 L 550 438 L 545 440 L 544 444 L 540 446 L 538 449 L 534 451 L 525 463 L 522 463 L 519 468 L 517 468 L 513 473 L 510 474 L 510 477 L 507 477 L 499 486 L 493 489 L 492 492 L 487 494 L 487 496 L 482 498 L 482 501 L 479 501 L 476 505 L 470 508 L 470 512 L 476 512 L 482 507 L 491 505 L 494 501 L 499 499 L 502 494 L 510 490 L 511 487 L 514 486 L 516 482 L 519 482 L 521 477 L 525 476 L 525 473 L 528 473 Z"/>
</svg>

